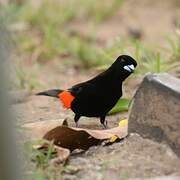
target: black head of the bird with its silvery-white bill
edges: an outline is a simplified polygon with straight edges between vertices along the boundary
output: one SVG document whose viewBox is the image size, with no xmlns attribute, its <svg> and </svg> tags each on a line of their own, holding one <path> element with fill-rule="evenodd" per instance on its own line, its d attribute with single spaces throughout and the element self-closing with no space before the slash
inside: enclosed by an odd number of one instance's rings
<svg viewBox="0 0 180 180">
<path fill-rule="evenodd" d="M 131 73 L 134 72 L 137 66 L 137 62 L 131 56 L 121 55 L 112 64 L 112 68 L 115 69 L 123 79 L 126 79 Z"/>
</svg>

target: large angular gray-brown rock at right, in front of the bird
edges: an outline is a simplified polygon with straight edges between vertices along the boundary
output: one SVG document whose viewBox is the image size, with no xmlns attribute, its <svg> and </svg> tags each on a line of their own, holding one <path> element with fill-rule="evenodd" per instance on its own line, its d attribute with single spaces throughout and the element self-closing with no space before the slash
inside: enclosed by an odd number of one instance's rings
<svg viewBox="0 0 180 180">
<path fill-rule="evenodd" d="M 130 107 L 129 131 L 166 141 L 180 156 L 180 79 L 147 74 Z"/>
</svg>

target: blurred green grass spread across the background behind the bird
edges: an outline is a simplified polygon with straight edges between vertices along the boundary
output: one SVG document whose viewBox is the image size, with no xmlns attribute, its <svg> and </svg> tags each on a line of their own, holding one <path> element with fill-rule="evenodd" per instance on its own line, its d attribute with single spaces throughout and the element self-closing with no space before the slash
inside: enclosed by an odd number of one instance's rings
<svg viewBox="0 0 180 180">
<path fill-rule="evenodd" d="M 133 39 L 116 38 L 111 43 L 99 47 L 96 38 L 96 27 L 113 16 L 122 6 L 123 0 L 95 1 L 45 0 L 38 7 L 30 1 L 21 6 L 11 4 L 3 9 L 4 14 L 14 14 L 14 24 L 20 25 L 15 37 L 17 52 L 33 57 L 35 62 L 46 62 L 52 59 L 67 59 L 72 65 L 82 68 L 99 67 L 105 69 L 119 54 L 130 54 L 138 61 L 136 74 L 147 72 L 179 73 L 180 33 L 177 30 L 174 38 L 168 37 L 163 48 L 150 48 Z M 88 21 L 90 29 L 86 35 L 71 29 L 69 24 Z M 166 48 L 166 50 L 165 50 Z M 103 67 L 103 68 L 102 68 Z M 22 71 L 22 70 L 20 70 Z M 24 72 L 17 70 L 19 87 L 25 88 L 30 82 L 30 89 L 36 84 Z M 33 78 L 35 79 L 35 78 Z M 36 86 L 36 85 L 35 85 Z"/>
</svg>

